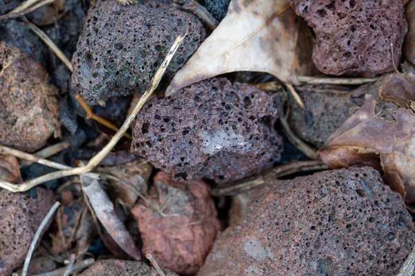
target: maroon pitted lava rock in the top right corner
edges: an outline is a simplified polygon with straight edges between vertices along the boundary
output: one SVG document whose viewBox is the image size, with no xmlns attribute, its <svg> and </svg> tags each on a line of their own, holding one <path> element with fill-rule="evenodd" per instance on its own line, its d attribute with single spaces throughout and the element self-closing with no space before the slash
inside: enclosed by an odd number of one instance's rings
<svg viewBox="0 0 415 276">
<path fill-rule="evenodd" d="M 407 33 L 401 0 L 289 0 L 313 27 L 315 66 L 328 75 L 372 77 L 394 71 Z"/>
</svg>

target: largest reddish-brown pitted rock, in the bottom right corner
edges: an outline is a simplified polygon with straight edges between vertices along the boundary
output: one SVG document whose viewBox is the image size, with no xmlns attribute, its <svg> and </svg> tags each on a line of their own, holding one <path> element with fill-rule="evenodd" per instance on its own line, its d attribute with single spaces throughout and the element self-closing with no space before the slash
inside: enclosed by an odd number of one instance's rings
<svg viewBox="0 0 415 276">
<path fill-rule="evenodd" d="M 369 167 L 270 181 L 216 240 L 198 275 L 396 275 L 414 223 Z"/>
</svg>

